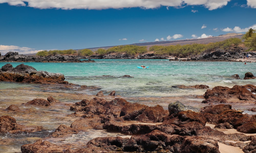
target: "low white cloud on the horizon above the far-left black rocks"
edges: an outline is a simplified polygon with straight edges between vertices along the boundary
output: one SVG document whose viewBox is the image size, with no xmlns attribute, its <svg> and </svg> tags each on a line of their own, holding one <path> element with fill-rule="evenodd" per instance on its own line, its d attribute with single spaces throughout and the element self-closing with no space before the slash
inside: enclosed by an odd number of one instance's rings
<svg viewBox="0 0 256 153">
<path fill-rule="evenodd" d="M 19 54 L 36 54 L 39 51 L 42 50 L 35 50 L 28 47 L 0 45 L 0 52 L 2 55 L 5 55 L 7 52 L 18 52 Z"/>
</svg>

